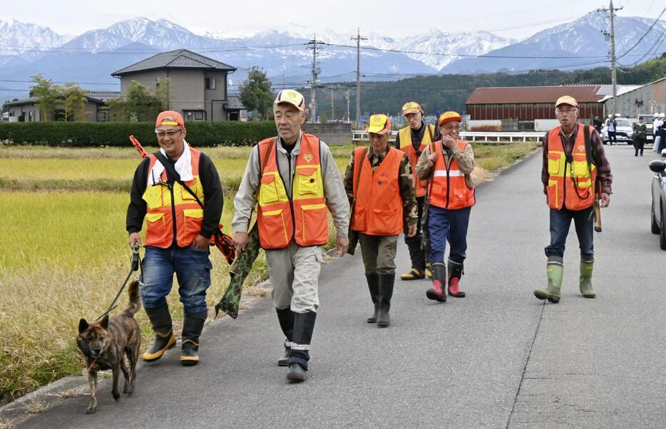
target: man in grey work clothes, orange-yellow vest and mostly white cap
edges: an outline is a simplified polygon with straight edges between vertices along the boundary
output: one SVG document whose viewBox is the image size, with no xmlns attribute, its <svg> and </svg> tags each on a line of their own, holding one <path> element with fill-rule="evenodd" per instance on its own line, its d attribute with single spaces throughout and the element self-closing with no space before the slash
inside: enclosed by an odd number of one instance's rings
<svg viewBox="0 0 666 429">
<path fill-rule="evenodd" d="M 277 137 L 252 150 L 234 205 L 232 222 L 238 252 L 247 244 L 247 227 L 257 204 L 259 241 L 266 251 L 277 320 L 285 334 L 287 380 L 304 381 L 319 296 L 317 282 L 328 242 L 327 210 L 337 229 L 340 256 L 347 252 L 349 201 L 328 146 L 302 132 L 305 98 L 282 90 L 273 103 Z"/>
</svg>

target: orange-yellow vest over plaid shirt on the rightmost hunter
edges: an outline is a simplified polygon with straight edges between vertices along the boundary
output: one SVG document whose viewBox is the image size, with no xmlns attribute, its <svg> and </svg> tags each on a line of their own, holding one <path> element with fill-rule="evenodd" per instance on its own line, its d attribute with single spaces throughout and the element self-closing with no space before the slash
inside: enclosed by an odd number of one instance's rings
<svg viewBox="0 0 666 429">
<path fill-rule="evenodd" d="M 576 124 L 578 131 L 571 150 L 571 162 L 567 162 L 560 138 L 560 126 L 548 131 L 548 207 L 560 210 L 583 210 L 592 207 L 595 195 L 597 167 L 585 153 L 583 124 Z M 594 128 L 590 127 L 590 140 Z M 590 177 L 590 171 L 592 177 Z"/>
</svg>

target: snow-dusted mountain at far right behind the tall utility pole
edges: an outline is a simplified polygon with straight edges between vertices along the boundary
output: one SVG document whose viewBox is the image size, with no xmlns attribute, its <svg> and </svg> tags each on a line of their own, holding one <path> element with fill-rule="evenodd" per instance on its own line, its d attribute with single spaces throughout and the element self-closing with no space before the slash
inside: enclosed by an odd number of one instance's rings
<svg viewBox="0 0 666 429">
<path fill-rule="evenodd" d="M 629 66 L 645 61 L 654 52 L 666 51 L 666 21 L 658 21 L 632 51 L 627 52 L 647 32 L 654 19 L 618 16 L 615 18 L 615 53 L 618 64 Z M 609 43 L 602 31 L 610 31 L 607 12 L 585 15 L 567 24 L 536 33 L 519 43 L 485 53 L 478 58 L 465 58 L 442 71 L 444 73 L 478 73 L 493 71 L 528 71 L 538 68 L 591 68 L 608 66 Z M 626 56 L 623 54 L 627 53 Z"/>
</svg>

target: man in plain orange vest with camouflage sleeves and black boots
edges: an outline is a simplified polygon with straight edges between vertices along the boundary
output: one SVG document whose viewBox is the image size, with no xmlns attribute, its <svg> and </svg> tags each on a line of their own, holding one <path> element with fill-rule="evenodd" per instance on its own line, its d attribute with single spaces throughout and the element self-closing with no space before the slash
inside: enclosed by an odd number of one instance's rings
<svg viewBox="0 0 666 429">
<path fill-rule="evenodd" d="M 368 323 L 389 326 L 389 309 L 396 276 L 398 235 L 416 234 L 414 178 L 409 158 L 389 147 L 391 120 L 372 115 L 366 129 L 370 148 L 354 149 L 344 175 L 344 189 L 354 201 L 352 230 L 359 242 L 374 314 Z"/>
</svg>

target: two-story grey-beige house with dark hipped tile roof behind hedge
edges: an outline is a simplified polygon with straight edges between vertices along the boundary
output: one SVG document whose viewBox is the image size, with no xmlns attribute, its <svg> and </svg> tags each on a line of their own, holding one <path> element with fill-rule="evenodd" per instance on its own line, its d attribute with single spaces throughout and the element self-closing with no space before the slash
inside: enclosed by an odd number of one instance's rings
<svg viewBox="0 0 666 429">
<path fill-rule="evenodd" d="M 121 80 L 121 93 L 128 92 L 132 81 L 155 90 L 169 78 L 168 110 L 175 110 L 190 120 L 240 120 L 247 110 L 237 96 L 227 95 L 227 74 L 236 69 L 187 49 L 158 53 L 143 61 L 111 73 Z"/>
</svg>

